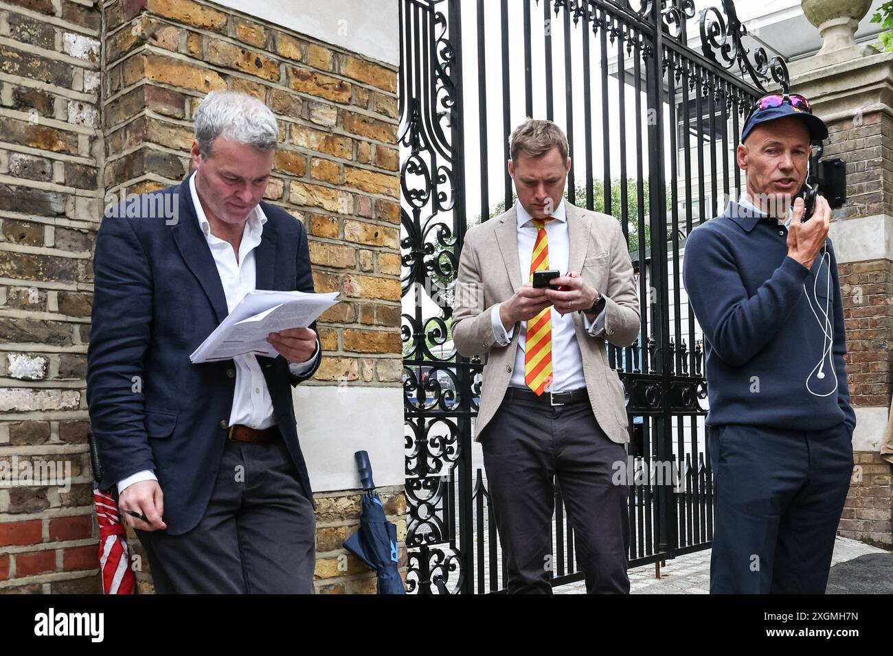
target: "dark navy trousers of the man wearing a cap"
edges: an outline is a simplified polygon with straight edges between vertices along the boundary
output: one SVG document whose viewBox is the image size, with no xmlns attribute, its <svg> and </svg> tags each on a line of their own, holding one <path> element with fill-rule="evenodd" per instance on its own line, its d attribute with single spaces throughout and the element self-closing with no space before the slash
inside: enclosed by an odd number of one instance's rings
<svg viewBox="0 0 893 656">
<path fill-rule="evenodd" d="M 824 594 L 853 475 L 846 424 L 708 427 L 712 594 Z"/>
</svg>

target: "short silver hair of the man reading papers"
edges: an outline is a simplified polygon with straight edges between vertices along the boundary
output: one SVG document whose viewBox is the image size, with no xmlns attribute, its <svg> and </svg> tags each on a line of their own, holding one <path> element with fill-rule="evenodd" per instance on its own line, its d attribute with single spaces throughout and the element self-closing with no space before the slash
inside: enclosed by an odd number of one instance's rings
<svg viewBox="0 0 893 656">
<path fill-rule="evenodd" d="M 213 140 L 217 137 L 271 151 L 279 142 L 279 126 L 270 108 L 255 96 L 238 91 L 212 91 L 196 110 L 196 140 L 204 157 L 211 156 Z"/>
</svg>

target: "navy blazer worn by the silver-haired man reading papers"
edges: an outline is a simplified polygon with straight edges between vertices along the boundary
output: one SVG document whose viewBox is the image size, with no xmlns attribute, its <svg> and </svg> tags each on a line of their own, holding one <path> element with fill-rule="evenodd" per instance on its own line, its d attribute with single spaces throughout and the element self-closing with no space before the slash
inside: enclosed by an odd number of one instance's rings
<svg viewBox="0 0 893 656">
<path fill-rule="evenodd" d="M 261 208 L 267 221 L 255 248 L 256 288 L 313 292 L 304 225 L 271 204 Z M 93 270 L 87 402 L 101 486 L 154 469 L 167 531 L 186 533 L 211 497 L 236 383 L 232 360 L 189 361 L 229 314 L 189 179 L 106 210 Z M 302 377 L 281 355 L 255 357 L 297 477 L 313 502 L 291 393 L 313 376 L 321 355 Z"/>
</svg>

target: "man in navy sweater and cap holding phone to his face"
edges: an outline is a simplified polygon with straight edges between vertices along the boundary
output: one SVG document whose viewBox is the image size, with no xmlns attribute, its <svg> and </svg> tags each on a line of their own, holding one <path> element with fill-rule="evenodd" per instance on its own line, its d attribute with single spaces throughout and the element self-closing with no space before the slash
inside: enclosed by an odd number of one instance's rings
<svg viewBox="0 0 893 656">
<path fill-rule="evenodd" d="M 828 581 L 855 413 L 830 207 L 818 196 L 803 221 L 792 202 L 826 137 L 802 96 L 761 98 L 736 153 L 747 195 L 686 243 L 710 394 L 714 594 L 823 594 Z"/>
</svg>

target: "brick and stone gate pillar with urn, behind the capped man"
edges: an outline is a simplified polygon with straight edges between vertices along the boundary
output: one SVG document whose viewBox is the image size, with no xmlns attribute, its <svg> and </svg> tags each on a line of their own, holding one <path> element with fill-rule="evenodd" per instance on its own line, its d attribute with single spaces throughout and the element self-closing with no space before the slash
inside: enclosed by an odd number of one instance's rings
<svg viewBox="0 0 893 656">
<path fill-rule="evenodd" d="M 803 0 L 824 40 L 789 66 L 830 132 L 825 159 L 847 162 L 847 203 L 834 243 L 847 329 L 847 374 L 857 425 L 855 471 L 839 535 L 893 545 L 890 465 L 880 458 L 893 393 L 893 54 L 855 43 L 870 0 Z"/>
</svg>

